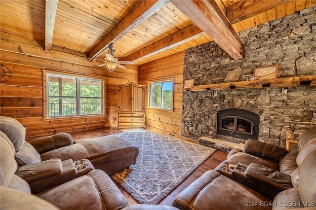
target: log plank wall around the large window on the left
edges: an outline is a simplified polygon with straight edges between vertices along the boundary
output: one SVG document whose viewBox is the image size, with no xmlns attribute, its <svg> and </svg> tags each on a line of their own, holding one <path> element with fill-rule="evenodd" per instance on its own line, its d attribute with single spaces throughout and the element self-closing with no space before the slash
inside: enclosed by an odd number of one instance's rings
<svg viewBox="0 0 316 210">
<path fill-rule="evenodd" d="M 45 53 L 44 43 L 19 35 L 1 32 L 0 62 L 12 72 L 0 84 L 0 115 L 17 119 L 26 126 L 27 138 L 117 125 L 118 85 L 138 83 L 138 67 L 109 72 L 88 62 L 84 53 L 53 46 Z M 103 116 L 43 121 L 43 72 L 89 75 L 105 80 L 106 112 Z"/>
</svg>

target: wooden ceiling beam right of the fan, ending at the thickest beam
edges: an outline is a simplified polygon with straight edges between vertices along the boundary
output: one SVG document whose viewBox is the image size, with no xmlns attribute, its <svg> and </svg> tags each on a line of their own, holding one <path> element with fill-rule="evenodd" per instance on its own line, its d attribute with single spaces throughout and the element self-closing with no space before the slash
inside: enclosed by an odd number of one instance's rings
<svg viewBox="0 0 316 210">
<path fill-rule="evenodd" d="M 183 44 L 187 41 L 190 41 L 192 39 L 195 39 L 199 36 L 204 35 L 205 33 L 200 30 L 195 25 L 190 25 L 178 32 L 175 32 L 171 35 L 168 35 L 154 43 L 152 43 L 149 46 L 146 46 L 128 56 L 125 58 L 122 58 L 121 60 L 126 61 L 136 61 L 139 59 L 147 58 L 149 56 L 155 55 L 159 52 L 171 49 L 172 47 L 178 46 L 180 44 Z"/>
</svg>

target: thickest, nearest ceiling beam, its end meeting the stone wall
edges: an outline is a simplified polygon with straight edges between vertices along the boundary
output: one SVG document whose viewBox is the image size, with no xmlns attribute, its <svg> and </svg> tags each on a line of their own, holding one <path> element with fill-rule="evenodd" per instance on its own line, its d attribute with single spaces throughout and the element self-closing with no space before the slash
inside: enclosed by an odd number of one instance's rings
<svg viewBox="0 0 316 210">
<path fill-rule="evenodd" d="M 242 59 L 243 42 L 213 0 L 170 0 L 234 59 Z"/>
</svg>

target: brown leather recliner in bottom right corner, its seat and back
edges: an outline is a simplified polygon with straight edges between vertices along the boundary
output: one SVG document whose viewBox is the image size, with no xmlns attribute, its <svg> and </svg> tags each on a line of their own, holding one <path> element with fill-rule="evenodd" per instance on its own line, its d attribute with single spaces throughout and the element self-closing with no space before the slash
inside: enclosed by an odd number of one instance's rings
<svg viewBox="0 0 316 210">
<path fill-rule="evenodd" d="M 309 143 L 313 145 L 307 146 Z M 297 176 L 292 176 L 295 187 L 278 193 L 273 200 L 225 175 L 208 171 L 177 195 L 172 206 L 180 210 L 316 209 L 316 144 L 309 143 L 297 156 Z"/>
</svg>

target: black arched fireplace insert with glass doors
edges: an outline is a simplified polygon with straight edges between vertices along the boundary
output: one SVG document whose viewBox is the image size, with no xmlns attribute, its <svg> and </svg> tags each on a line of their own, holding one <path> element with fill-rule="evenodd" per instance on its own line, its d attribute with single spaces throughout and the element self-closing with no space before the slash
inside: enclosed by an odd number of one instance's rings
<svg viewBox="0 0 316 210">
<path fill-rule="evenodd" d="M 217 113 L 217 134 L 237 139 L 258 140 L 259 115 L 244 109 L 229 108 Z"/>
</svg>

